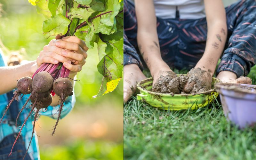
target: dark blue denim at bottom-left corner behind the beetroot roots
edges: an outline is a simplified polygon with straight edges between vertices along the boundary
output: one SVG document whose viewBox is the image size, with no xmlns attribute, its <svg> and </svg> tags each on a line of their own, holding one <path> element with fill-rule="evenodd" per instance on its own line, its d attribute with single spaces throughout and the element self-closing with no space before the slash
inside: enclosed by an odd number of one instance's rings
<svg viewBox="0 0 256 160">
<path fill-rule="evenodd" d="M 25 147 L 25 142 L 23 141 L 21 135 L 13 147 L 12 155 L 9 156 L 10 151 L 12 149 L 12 145 L 16 137 L 17 137 L 17 133 L 9 134 L 8 136 L 4 137 L 4 139 L 1 141 L 0 160 L 22 160 L 23 156 L 26 153 L 26 147 Z M 31 158 L 27 154 L 24 160 L 31 160 Z"/>
</svg>

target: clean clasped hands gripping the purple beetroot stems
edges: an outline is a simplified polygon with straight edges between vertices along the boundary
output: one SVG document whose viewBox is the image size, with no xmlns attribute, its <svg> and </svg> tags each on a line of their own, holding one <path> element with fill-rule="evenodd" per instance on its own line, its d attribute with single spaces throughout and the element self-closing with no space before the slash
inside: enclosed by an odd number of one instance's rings
<svg viewBox="0 0 256 160">
<path fill-rule="evenodd" d="M 56 36 L 60 38 L 60 36 Z M 67 36 L 57 40 L 52 40 L 48 45 L 44 46 L 36 59 L 37 68 L 43 63 L 58 64 L 59 62 L 71 71 L 70 74 L 76 74 L 81 71 L 87 58 L 86 47 L 84 41 L 75 36 Z"/>
</svg>

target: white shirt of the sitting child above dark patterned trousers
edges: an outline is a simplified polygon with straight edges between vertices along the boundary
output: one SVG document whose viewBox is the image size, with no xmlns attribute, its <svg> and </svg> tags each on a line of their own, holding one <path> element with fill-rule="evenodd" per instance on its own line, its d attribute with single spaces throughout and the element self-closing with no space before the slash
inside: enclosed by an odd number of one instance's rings
<svg viewBox="0 0 256 160">
<path fill-rule="evenodd" d="M 205 17 L 204 0 L 154 0 L 156 16 L 162 19 L 175 18 L 176 6 L 180 19 L 200 19 Z"/>
</svg>

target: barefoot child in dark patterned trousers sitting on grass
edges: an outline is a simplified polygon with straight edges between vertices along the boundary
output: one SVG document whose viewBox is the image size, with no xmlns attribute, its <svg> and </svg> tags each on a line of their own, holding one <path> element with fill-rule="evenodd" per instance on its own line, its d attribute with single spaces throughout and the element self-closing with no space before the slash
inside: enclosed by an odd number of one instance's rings
<svg viewBox="0 0 256 160">
<path fill-rule="evenodd" d="M 159 80 L 176 77 L 170 68 L 191 69 L 182 92 L 211 87 L 216 70 L 222 82 L 246 83 L 256 62 L 256 1 L 224 8 L 221 0 L 124 0 L 124 102 L 135 92 L 145 61 L 160 92 Z M 140 51 L 140 54 L 137 50 Z M 156 89 L 157 91 L 157 89 Z"/>
</svg>

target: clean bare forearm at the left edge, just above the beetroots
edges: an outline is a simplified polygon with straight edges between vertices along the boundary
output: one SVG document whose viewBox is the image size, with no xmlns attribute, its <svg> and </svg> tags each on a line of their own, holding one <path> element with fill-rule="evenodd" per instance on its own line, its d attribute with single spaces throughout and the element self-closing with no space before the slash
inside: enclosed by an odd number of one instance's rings
<svg viewBox="0 0 256 160">
<path fill-rule="evenodd" d="M 36 61 L 17 66 L 0 67 L 0 94 L 13 90 L 20 78 L 32 76 L 32 68 L 35 67 Z"/>
</svg>

